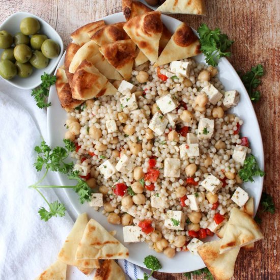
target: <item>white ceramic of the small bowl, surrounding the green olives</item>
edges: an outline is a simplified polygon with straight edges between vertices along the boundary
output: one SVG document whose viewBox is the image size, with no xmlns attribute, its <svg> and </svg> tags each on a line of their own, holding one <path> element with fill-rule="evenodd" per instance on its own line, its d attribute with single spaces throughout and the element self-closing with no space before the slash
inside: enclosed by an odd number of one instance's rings
<svg viewBox="0 0 280 280">
<path fill-rule="evenodd" d="M 13 85 L 19 89 L 30 90 L 30 89 L 34 89 L 40 85 L 41 75 L 43 75 L 44 72 L 50 74 L 51 72 L 53 72 L 55 67 L 57 67 L 57 65 L 62 57 L 62 53 L 63 53 L 63 42 L 62 42 L 62 39 L 59 36 L 59 34 L 48 23 L 46 23 L 40 17 L 30 14 L 30 13 L 26 13 L 26 12 L 17 12 L 15 14 L 9 16 L 1 24 L 0 30 L 6 30 L 7 32 L 9 32 L 10 34 L 12 34 L 14 36 L 17 32 L 20 32 L 19 24 L 20 24 L 20 21 L 25 17 L 34 17 L 34 18 L 38 19 L 38 21 L 40 22 L 40 25 L 41 25 L 41 29 L 40 29 L 39 33 L 45 34 L 49 39 L 54 40 L 60 46 L 59 56 L 57 58 L 50 59 L 49 64 L 46 68 L 44 68 L 44 69 L 33 68 L 33 73 L 28 78 L 20 78 L 18 76 L 15 76 L 11 80 L 4 79 L 8 83 L 10 83 L 11 85 Z M 1 55 L 2 51 L 3 51 L 3 49 L 0 49 L 0 55 Z"/>
</svg>

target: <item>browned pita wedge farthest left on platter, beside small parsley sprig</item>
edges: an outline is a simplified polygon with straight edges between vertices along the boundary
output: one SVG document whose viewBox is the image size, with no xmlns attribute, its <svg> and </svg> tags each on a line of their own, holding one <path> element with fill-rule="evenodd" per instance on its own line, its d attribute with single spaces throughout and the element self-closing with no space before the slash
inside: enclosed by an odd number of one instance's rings
<svg viewBox="0 0 280 280">
<path fill-rule="evenodd" d="M 56 76 L 57 81 L 55 82 L 55 88 L 57 89 L 61 106 L 68 112 L 80 105 L 83 101 L 72 97 L 72 91 L 64 67 L 58 69 Z"/>
</svg>

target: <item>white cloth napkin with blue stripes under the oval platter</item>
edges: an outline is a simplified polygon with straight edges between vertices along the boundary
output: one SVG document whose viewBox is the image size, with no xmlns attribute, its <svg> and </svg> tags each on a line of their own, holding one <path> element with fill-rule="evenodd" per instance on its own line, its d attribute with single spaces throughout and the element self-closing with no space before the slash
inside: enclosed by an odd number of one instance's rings
<svg viewBox="0 0 280 280">
<path fill-rule="evenodd" d="M 38 209 L 45 203 L 27 187 L 42 176 L 33 167 L 34 147 L 42 136 L 46 139 L 46 111 L 36 106 L 30 92 L 0 82 L 0 279 L 38 276 L 56 260 L 77 216 L 68 207 L 70 215 L 40 220 Z M 56 179 L 52 173 L 45 180 L 54 184 Z M 59 199 L 65 203 L 61 191 L 48 189 L 44 194 L 51 202 Z M 142 269 L 126 260 L 118 263 L 127 279 L 143 278 Z M 68 267 L 67 279 L 89 278 Z"/>
</svg>

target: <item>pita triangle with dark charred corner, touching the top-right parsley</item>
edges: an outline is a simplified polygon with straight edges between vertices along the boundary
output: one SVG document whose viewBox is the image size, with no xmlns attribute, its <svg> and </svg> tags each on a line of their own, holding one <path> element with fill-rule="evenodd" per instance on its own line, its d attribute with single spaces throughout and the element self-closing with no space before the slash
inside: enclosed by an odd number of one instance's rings
<svg viewBox="0 0 280 280">
<path fill-rule="evenodd" d="M 192 29 L 186 24 L 181 23 L 166 47 L 161 52 L 154 67 L 193 57 L 200 53 L 199 38 L 193 33 Z"/>
</svg>

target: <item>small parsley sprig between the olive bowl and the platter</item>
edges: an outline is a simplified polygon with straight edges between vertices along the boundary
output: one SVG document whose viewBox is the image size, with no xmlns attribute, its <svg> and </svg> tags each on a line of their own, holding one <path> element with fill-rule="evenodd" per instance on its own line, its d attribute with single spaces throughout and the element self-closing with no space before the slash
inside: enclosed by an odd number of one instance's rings
<svg viewBox="0 0 280 280">
<path fill-rule="evenodd" d="M 57 77 L 50 76 L 49 74 L 44 72 L 44 75 L 41 76 L 41 85 L 32 90 L 31 95 L 34 96 L 34 99 L 36 101 L 36 105 L 39 108 L 45 108 L 49 107 L 51 104 L 47 103 L 47 98 L 49 95 L 49 87 L 54 85 L 55 81 L 57 80 Z"/>
</svg>

